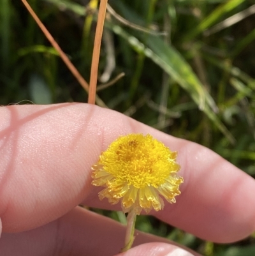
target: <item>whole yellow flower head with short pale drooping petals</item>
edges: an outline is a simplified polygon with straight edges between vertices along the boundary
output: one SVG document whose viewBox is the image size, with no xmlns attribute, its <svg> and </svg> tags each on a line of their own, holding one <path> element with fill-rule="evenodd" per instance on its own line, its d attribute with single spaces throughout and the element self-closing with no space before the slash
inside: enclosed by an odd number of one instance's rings
<svg viewBox="0 0 255 256">
<path fill-rule="evenodd" d="M 130 134 L 119 137 L 101 154 L 92 166 L 92 184 L 105 186 L 99 199 L 108 198 L 111 204 L 121 200 L 125 213 L 142 209 L 149 213 L 163 209 L 163 196 L 174 203 L 180 194 L 182 177 L 176 175 L 180 165 L 175 162 L 177 152 L 172 152 L 151 135 Z"/>
</svg>

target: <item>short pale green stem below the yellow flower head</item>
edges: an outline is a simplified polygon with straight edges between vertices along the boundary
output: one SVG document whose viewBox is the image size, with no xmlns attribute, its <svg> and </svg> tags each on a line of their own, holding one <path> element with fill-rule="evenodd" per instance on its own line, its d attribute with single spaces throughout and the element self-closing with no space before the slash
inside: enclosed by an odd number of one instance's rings
<svg viewBox="0 0 255 256">
<path fill-rule="evenodd" d="M 126 237 L 125 237 L 125 246 L 122 248 L 120 252 L 126 252 L 128 251 L 131 246 L 133 245 L 135 236 L 135 221 L 136 221 L 136 213 L 134 209 L 131 209 L 129 211 L 128 216 L 127 216 L 127 230 L 126 230 Z"/>
</svg>

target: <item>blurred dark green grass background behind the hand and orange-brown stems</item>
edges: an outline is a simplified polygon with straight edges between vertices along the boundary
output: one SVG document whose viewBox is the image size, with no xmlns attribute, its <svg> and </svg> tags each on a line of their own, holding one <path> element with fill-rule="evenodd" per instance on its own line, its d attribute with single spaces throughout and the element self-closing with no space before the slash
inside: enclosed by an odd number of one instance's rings
<svg viewBox="0 0 255 256">
<path fill-rule="evenodd" d="M 91 1 L 90 3 L 94 3 Z M 89 80 L 96 12 L 89 0 L 30 0 Z M 255 176 L 255 5 L 252 0 L 110 0 L 98 92 L 115 109 L 209 147 Z M 92 6 L 92 5 L 91 5 Z M 117 14 L 116 14 L 117 13 Z M 0 103 L 87 102 L 21 1 L 0 3 Z M 112 70 L 111 63 L 116 61 Z M 124 221 L 120 213 L 101 213 Z M 140 216 L 137 228 L 207 256 L 255 255 L 255 236 L 215 245 Z"/>
</svg>

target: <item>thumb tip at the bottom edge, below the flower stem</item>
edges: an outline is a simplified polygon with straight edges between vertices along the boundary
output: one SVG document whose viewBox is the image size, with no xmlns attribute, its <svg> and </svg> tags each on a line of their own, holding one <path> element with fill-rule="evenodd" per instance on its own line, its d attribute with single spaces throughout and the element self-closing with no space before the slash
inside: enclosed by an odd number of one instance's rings
<svg viewBox="0 0 255 256">
<path fill-rule="evenodd" d="M 177 246 L 168 245 L 166 243 L 147 243 L 136 246 L 128 250 L 128 252 L 120 253 L 116 256 L 199 256 L 194 255 Z"/>
</svg>

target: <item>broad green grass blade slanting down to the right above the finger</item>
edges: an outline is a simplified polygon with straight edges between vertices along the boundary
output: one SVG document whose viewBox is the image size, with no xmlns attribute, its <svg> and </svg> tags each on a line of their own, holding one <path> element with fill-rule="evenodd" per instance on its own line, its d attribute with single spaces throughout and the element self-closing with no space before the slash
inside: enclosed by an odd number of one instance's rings
<svg viewBox="0 0 255 256">
<path fill-rule="evenodd" d="M 121 27 L 113 26 L 112 29 L 116 34 L 119 34 L 119 36 L 127 40 L 136 52 L 144 52 L 145 56 L 152 59 L 152 61 L 160 66 L 164 72 L 171 75 L 180 86 L 186 89 L 198 107 L 207 114 L 215 126 L 224 133 L 230 142 L 235 142 L 231 133 L 215 114 L 217 106 L 215 105 L 214 100 L 205 90 L 200 80 L 198 80 L 189 64 L 182 58 L 177 50 L 164 43 L 161 38 L 155 36 L 148 36 L 146 40 L 147 45 L 145 47 L 138 38 L 129 35 Z"/>
</svg>

